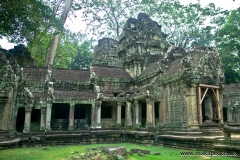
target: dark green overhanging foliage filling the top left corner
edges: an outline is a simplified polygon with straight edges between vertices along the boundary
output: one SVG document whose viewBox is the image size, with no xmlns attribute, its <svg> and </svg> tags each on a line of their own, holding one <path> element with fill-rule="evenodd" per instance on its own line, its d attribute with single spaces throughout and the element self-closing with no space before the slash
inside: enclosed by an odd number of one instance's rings
<svg viewBox="0 0 240 160">
<path fill-rule="evenodd" d="M 30 41 L 46 26 L 58 23 L 52 12 L 41 0 L 0 0 L 0 38 Z"/>
</svg>

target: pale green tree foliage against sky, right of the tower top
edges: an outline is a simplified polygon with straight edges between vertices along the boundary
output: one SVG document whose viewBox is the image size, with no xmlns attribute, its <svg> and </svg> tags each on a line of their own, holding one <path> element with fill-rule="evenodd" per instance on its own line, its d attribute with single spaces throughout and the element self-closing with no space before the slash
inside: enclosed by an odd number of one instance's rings
<svg viewBox="0 0 240 160">
<path fill-rule="evenodd" d="M 168 35 L 167 40 L 170 45 L 184 48 L 192 44 L 212 46 L 213 31 L 217 26 L 206 22 L 213 22 L 214 19 L 223 15 L 222 10 L 216 8 L 213 3 L 201 7 L 200 3 L 182 5 L 178 0 L 161 3 L 155 1 L 142 10 L 162 25 L 162 30 Z"/>
</svg>

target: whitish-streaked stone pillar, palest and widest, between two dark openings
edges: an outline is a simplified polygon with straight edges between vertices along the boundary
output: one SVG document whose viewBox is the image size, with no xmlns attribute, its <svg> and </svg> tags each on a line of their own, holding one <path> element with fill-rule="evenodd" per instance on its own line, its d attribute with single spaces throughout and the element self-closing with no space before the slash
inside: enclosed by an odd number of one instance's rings
<svg viewBox="0 0 240 160">
<path fill-rule="evenodd" d="M 94 111 L 92 112 L 92 128 L 101 128 L 101 105 L 102 101 L 97 100 L 95 102 Z"/>
</svg>

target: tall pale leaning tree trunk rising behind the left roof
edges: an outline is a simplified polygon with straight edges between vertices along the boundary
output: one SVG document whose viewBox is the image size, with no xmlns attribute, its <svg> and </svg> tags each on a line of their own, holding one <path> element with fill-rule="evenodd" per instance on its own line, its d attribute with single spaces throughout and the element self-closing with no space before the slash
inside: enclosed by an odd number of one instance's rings
<svg viewBox="0 0 240 160">
<path fill-rule="evenodd" d="M 70 8 L 72 6 L 72 3 L 73 3 L 73 0 L 67 0 L 66 1 L 66 5 L 63 9 L 61 19 L 60 19 L 60 22 L 61 22 L 60 25 L 62 25 L 62 27 L 63 27 L 63 25 L 64 25 L 64 23 L 67 19 L 67 16 L 68 16 L 68 13 L 69 13 Z M 60 35 L 61 35 L 61 29 L 59 29 L 59 28 L 56 29 L 56 31 L 53 35 L 53 38 L 51 40 L 50 46 L 48 48 L 48 53 L 47 53 L 47 57 L 46 57 L 46 61 L 45 61 L 45 66 L 48 66 L 48 65 L 52 66 L 53 65 L 54 56 L 55 56 L 57 46 L 58 46 L 58 42 L 59 42 Z"/>
</svg>

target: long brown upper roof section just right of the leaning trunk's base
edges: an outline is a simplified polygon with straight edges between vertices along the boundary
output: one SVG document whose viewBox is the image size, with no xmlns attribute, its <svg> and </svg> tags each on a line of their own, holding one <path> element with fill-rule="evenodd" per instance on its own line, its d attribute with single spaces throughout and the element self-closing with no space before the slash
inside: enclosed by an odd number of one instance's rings
<svg viewBox="0 0 240 160">
<path fill-rule="evenodd" d="M 53 69 L 52 80 L 88 82 L 90 78 L 89 70 L 70 70 L 70 69 Z"/>
</svg>

